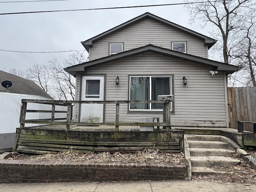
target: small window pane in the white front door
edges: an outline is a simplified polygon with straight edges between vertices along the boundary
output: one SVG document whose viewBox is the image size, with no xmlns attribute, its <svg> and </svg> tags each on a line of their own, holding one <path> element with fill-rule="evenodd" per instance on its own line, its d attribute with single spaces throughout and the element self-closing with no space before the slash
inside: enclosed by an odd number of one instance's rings
<svg viewBox="0 0 256 192">
<path fill-rule="evenodd" d="M 85 98 L 100 98 L 100 80 L 86 80 Z"/>
</svg>

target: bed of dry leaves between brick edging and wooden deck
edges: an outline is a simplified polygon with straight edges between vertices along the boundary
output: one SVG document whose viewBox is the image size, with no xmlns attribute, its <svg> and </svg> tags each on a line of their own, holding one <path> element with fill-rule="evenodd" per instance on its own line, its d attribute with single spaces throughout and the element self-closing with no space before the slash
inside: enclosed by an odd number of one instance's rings
<svg viewBox="0 0 256 192">
<path fill-rule="evenodd" d="M 58 161 L 86 161 L 94 162 L 134 162 L 134 163 L 168 163 L 168 164 L 188 164 L 184 153 L 163 153 L 160 150 L 144 150 L 136 151 L 135 153 L 123 152 L 103 152 L 103 153 L 78 153 L 78 152 L 58 152 L 45 155 L 29 155 L 29 154 L 14 154 L 9 159 L 19 160 L 58 160 Z"/>
</svg>

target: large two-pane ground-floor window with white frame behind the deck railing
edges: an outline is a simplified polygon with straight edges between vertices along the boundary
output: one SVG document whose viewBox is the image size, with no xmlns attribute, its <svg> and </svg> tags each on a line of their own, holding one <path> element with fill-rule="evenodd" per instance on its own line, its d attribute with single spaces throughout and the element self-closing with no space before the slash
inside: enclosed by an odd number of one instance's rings
<svg viewBox="0 0 256 192">
<path fill-rule="evenodd" d="M 172 76 L 130 76 L 130 100 L 157 100 L 172 94 Z M 162 110 L 162 103 L 130 104 L 130 110 Z"/>
</svg>

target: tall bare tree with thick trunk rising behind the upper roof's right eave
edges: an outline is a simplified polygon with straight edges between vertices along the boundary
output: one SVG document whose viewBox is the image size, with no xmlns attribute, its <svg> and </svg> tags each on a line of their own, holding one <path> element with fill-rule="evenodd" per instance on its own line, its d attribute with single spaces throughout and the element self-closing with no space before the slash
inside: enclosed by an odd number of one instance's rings
<svg viewBox="0 0 256 192">
<path fill-rule="evenodd" d="M 198 3 L 186 4 L 191 15 L 190 22 L 198 18 L 202 20 L 202 27 L 208 23 L 216 26 L 218 32 L 212 32 L 212 35 L 221 40 L 221 46 L 217 46 L 218 50 L 222 48 L 224 62 L 229 63 L 233 48 L 233 35 L 238 29 L 236 27 L 238 15 L 242 15 L 245 7 L 252 7 L 252 3 L 250 0 L 194 0 L 192 2 Z"/>
</svg>

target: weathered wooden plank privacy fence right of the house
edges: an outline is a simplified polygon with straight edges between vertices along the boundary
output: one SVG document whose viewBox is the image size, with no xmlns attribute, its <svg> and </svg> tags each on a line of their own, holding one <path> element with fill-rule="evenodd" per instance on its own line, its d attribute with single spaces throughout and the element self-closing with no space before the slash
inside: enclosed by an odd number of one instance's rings
<svg viewBox="0 0 256 192">
<path fill-rule="evenodd" d="M 237 121 L 256 122 L 256 87 L 228 87 L 228 118 L 235 129 Z M 244 123 L 244 130 L 253 132 L 253 124 Z"/>
</svg>

